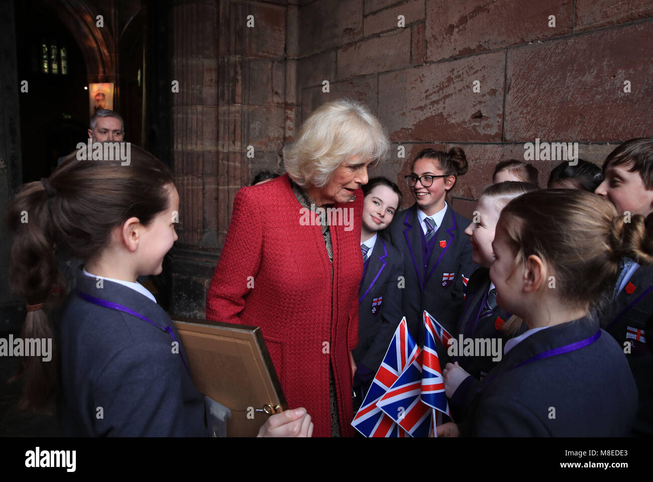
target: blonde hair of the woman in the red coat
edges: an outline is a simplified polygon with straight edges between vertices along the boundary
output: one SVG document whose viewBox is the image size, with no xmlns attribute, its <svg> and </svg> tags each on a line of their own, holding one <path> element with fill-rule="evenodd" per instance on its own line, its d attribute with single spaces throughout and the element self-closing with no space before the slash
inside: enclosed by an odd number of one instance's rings
<svg viewBox="0 0 653 482">
<path fill-rule="evenodd" d="M 345 161 L 384 159 L 390 150 L 385 129 L 370 110 L 350 99 L 322 104 L 304 122 L 297 140 L 283 148 L 283 165 L 296 184 L 324 187 Z"/>
</svg>

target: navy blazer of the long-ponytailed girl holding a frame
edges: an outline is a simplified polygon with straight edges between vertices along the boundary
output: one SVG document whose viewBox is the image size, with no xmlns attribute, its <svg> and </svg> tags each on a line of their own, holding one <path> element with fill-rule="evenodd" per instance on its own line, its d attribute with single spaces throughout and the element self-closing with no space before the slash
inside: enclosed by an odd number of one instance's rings
<svg viewBox="0 0 653 482">
<path fill-rule="evenodd" d="M 131 308 L 163 327 L 168 314 L 144 295 L 86 276 L 76 289 Z M 172 336 L 133 315 L 97 306 L 73 291 L 59 321 L 57 406 L 64 436 L 206 436 L 204 398 Z"/>
</svg>

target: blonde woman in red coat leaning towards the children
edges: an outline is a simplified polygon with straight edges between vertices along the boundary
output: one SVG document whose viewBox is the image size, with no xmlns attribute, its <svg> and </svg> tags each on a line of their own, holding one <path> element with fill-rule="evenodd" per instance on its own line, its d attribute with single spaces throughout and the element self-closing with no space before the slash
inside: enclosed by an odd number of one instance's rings
<svg viewBox="0 0 653 482">
<path fill-rule="evenodd" d="M 243 187 L 206 297 L 206 317 L 261 327 L 289 407 L 314 436 L 353 436 L 360 216 L 387 135 L 368 108 L 323 104 L 284 150 L 287 174 Z"/>
</svg>

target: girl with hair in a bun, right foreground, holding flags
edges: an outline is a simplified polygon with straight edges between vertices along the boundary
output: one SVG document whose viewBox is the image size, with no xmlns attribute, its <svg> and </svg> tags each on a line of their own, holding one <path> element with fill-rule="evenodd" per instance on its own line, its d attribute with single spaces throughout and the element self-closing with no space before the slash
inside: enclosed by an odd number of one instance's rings
<svg viewBox="0 0 653 482">
<path fill-rule="evenodd" d="M 624 223 L 609 202 L 586 191 L 526 193 L 502 211 L 490 279 L 497 302 L 528 324 L 476 383 L 462 425 L 438 436 L 625 436 L 637 388 L 622 347 L 599 328 L 620 256 L 653 261 L 653 223 Z M 623 241 L 626 240 L 626 241 Z M 471 379 L 443 372 L 447 394 Z M 598 423 L 597 421 L 600 421 Z"/>
</svg>

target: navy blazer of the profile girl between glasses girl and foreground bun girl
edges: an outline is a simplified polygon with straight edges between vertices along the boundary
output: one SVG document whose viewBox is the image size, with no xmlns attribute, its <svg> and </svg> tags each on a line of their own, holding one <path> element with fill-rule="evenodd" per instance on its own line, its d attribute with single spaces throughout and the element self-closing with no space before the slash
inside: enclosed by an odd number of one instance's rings
<svg viewBox="0 0 653 482">
<path fill-rule="evenodd" d="M 503 308 L 497 306 L 492 312 L 491 316 L 484 317 L 479 323 L 479 314 L 483 310 L 485 301 L 490 290 L 490 270 L 488 268 L 478 268 L 470 277 L 470 281 L 467 283 L 467 291 L 465 297 L 465 304 L 462 316 L 460 317 L 460 323 L 456 332 L 453 333 L 456 340 L 458 336 L 462 334 L 463 338 L 488 338 L 492 340 L 501 340 L 500 345 L 500 354 L 503 354 L 503 347 L 505 342 L 519 336 L 525 332 L 528 327 L 526 323 L 522 321 L 522 326 L 514 334 L 507 335 L 503 332 L 503 323 L 508 320 L 511 316 Z M 498 343 L 498 342 L 497 342 Z M 462 350 L 462 347 L 460 347 Z M 471 376 L 476 379 L 481 378 L 481 372 L 488 374 L 492 368 L 498 363 L 498 361 L 492 361 L 492 355 L 489 353 L 480 356 L 475 354 L 475 356 L 464 356 L 460 353 L 457 357 L 454 357 L 455 360 L 468 372 Z"/>
</svg>

